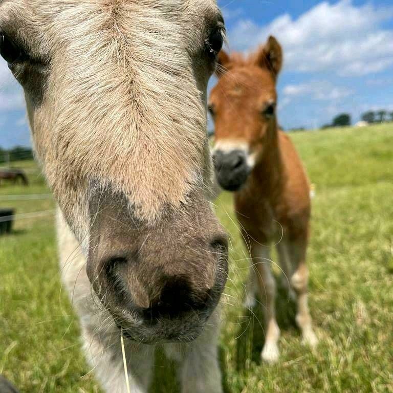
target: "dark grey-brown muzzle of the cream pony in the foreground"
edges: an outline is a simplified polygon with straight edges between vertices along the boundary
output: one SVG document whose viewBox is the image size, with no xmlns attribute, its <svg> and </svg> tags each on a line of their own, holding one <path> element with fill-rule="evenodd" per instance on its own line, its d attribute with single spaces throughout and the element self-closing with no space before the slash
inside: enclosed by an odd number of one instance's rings
<svg viewBox="0 0 393 393">
<path fill-rule="evenodd" d="M 87 273 L 128 337 L 195 338 L 220 300 L 227 237 L 198 195 L 153 224 L 136 220 L 113 198 L 106 205 L 101 197 L 98 212 L 94 208 Z"/>
</svg>

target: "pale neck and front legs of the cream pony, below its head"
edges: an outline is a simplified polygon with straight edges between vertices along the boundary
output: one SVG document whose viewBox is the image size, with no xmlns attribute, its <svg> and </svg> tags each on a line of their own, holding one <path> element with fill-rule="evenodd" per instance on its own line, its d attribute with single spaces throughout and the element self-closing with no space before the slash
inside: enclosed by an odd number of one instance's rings
<svg viewBox="0 0 393 393">
<path fill-rule="evenodd" d="M 107 392 L 127 393 L 121 352 L 120 331 L 101 307 L 85 271 L 85 258 L 75 236 L 57 213 L 57 233 L 62 282 L 79 315 L 83 349 L 92 372 Z M 168 357 L 179 364 L 182 393 L 221 393 L 221 371 L 217 358 L 219 310 L 189 344 L 164 344 Z M 128 377 L 133 393 L 147 393 L 152 377 L 154 345 L 125 340 Z"/>
</svg>

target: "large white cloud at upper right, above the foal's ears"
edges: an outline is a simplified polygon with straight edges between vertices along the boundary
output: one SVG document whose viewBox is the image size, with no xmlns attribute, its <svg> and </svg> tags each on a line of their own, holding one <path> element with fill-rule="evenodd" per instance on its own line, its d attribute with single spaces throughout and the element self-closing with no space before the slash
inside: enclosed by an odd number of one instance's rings
<svg viewBox="0 0 393 393">
<path fill-rule="evenodd" d="M 297 19 L 283 14 L 267 26 L 239 20 L 229 43 L 231 49 L 250 50 L 273 34 L 284 48 L 288 70 L 359 76 L 393 64 L 393 31 L 380 28 L 391 17 L 391 7 L 322 2 Z"/>
</svg>

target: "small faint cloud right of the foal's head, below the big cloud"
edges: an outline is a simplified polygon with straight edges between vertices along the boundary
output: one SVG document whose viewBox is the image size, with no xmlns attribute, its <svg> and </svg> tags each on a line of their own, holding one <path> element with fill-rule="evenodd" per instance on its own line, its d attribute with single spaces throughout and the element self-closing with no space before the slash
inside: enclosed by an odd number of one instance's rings
<svg viewBox="0 0 393 393">
<path fill-rule="evenodd" d="M 287 84 L 284 86 L 282 93 L 284 100 L 289 100 L 295 97 L 309 96 L 315 100 L 339 101 L 342 98 L 349 97 L 354 94 L 354 91 L 347 88 L 333 86 L 328 81 L 311 81 L 299 84 Z"/>
</svg>

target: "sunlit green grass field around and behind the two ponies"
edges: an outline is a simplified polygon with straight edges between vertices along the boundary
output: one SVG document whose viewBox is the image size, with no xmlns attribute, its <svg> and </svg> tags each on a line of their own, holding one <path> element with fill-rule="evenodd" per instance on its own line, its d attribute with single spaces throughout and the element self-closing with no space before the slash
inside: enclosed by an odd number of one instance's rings
<svg viewBox="0 0 393 393">
<path fill-rule="evenodd" d="M 262 315 L 242 307 L 248 262 L 231 195 L 223 194 L 217 214 L 231 235 L 220 341 L 226 391 L 393 392 L 393 124 L 292 138 L 316 185 L 308 260 L 320 344 L 314 353 L 301 346 L 293 304 L 280 293 L 280 361 L 260 363 Z M 48 192 L 38 174 L 30 180 L 29 188 L 2 186 L 0 195 Z M 0 207 L 24 213 L 54 202 L 0 200 Z M 0 238 L 0 277 L 0 374 L 26 393 L 98 392 L 60 291 L 52 216 L 18 220 L 14 233 Z M 157 358 L 161 381 L 152 391 L 176 391 L 173 367 Z"/>
</svg>

